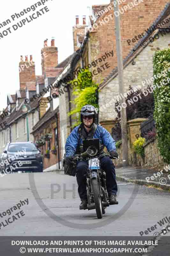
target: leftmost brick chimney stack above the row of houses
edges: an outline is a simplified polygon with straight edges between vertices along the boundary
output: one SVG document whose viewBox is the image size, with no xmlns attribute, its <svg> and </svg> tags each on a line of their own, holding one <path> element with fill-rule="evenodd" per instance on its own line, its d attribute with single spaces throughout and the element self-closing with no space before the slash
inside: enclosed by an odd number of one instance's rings
<svg viewBox="0 0 170 256">
<path fill-rule="evenodd" d="M 30 90 L 35 89 L 35 63 L 33 62 L 32 55 L 30 55 L 30 61 L 28 61 L 28 56 L 25 56 L 24 61 L 24 58 L 21 55 L 21 60 L 19 62 L 19 82 L 20 90 L 25 90 L 26 84 L 31 85 L 31 88 L 29 88 Z"/>
</svg>

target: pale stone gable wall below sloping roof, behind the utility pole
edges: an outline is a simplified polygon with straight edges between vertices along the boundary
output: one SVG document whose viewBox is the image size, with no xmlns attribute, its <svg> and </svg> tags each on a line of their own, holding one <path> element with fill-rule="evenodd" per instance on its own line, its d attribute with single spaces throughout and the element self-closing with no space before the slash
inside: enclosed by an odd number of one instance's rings
<svg viewBox="0 0 170 256">
<path fill-rule="evenodd" d="M 155 39 L 152 44 L 148 44 L 146 48 L 134 59 L 135 64 L 130 63 L 123 71 L 124 79 L 124 90 L 127 92 L 129 90 L 129 85 L 131 87 L 141 86 L 143 88 L 142 81 L 145 79 L 151 79 L 153 76 L 153 62 L 152 57 L 156 50 L 162 50 L 169 47 L 170 34 L 166 36 L 161 36 L 159 34 L 159 39 Z M 149 82 L 145 81 L 147 86 Z M 151 82 L 152 85 L 152 82 Z M 106 86 L 100 90 L 99 93 L 99 106 L 100 106 L 100 116 L 99 120 L 107 121 L 113 120 L 115 116 L 115 103 L 113 98 L 119 95 L 118 86 L 118 76 L 111 80 Z"/>
</svg>

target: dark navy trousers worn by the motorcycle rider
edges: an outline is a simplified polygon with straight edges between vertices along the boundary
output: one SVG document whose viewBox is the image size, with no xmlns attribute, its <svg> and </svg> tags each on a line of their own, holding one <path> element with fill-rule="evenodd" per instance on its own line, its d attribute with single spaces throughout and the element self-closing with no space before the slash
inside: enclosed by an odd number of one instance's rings
<svg viewBox="0 0 170 256">
<path fill-rule="evenodd" d="M 106 156 L 100 159 L 101 168 L 106 172 L 106 187 L 108 195 L 116 195 L 117 193 L 117 183 L 115 174 L 115 165 L 112 160 Z M 85 172 L 88 168 L 88 163 L 86 161 L 79 161 L 76 168 L 76 178 L 78 183 L 78 194 L 80 199 L 87 200 L 86 192 L 86 176 Z"/>
</svg>

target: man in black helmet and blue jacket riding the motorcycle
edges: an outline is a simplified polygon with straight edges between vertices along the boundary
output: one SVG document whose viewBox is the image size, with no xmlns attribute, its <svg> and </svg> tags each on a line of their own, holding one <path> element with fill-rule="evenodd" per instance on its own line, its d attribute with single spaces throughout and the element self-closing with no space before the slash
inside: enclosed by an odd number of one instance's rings
<svg viewBox="0 0 170 256">
<path fill-rule="evenodd" d="M 110 152 L 111 157 L 118 158 L 116 152 L 115 140 L 110 133 L 97 124 L 97 110 L 92 105 L 85 105 L 80 111 L 81 124 L 74 128 L 66 140 L 65 163 L 72 163 L 72 156 L 83 153 L 83 140 L 100 139 L 100 154 L 104 147 Z M 116 200 L 117 183 L 115 175 L 115 166 L 109 156 L 100 159 L 101 168 L 106 172 L 107 193 L 110 204 L 118 204 Z M 87 191 L 86 177 L 84 175 L 88 168 L 86 161 L 78 161 L 76 167 L 76 178 L 78 183 L 78 194 L 81 199 L 80 210 L 87 209 Z"/>
</svg>

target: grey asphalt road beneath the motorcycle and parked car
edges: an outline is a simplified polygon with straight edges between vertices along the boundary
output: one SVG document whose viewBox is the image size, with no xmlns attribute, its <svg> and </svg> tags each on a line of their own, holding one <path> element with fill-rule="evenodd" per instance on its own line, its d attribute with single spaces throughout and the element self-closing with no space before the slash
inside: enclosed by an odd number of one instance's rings
<svg viewBox="0 0 170 256">
<path fill-rule="evenodd" d="M 79 210 L 76 178 L 63 172 L 12 173 L 0 184 L 1 214 L 28 199 L 11 215 L 1 215 L 2 224 L 20 211 L 25 214 L 2 225 L 0 236 L 140 236 L 157 225 L 148 231 L 153 235 L 162 229 L 158 222 L 170 216 L 168 192 L 132 183 L 118 181 L 119 204 L 107 207 L 101 220 L 95 210 Z"/>
</svg>

